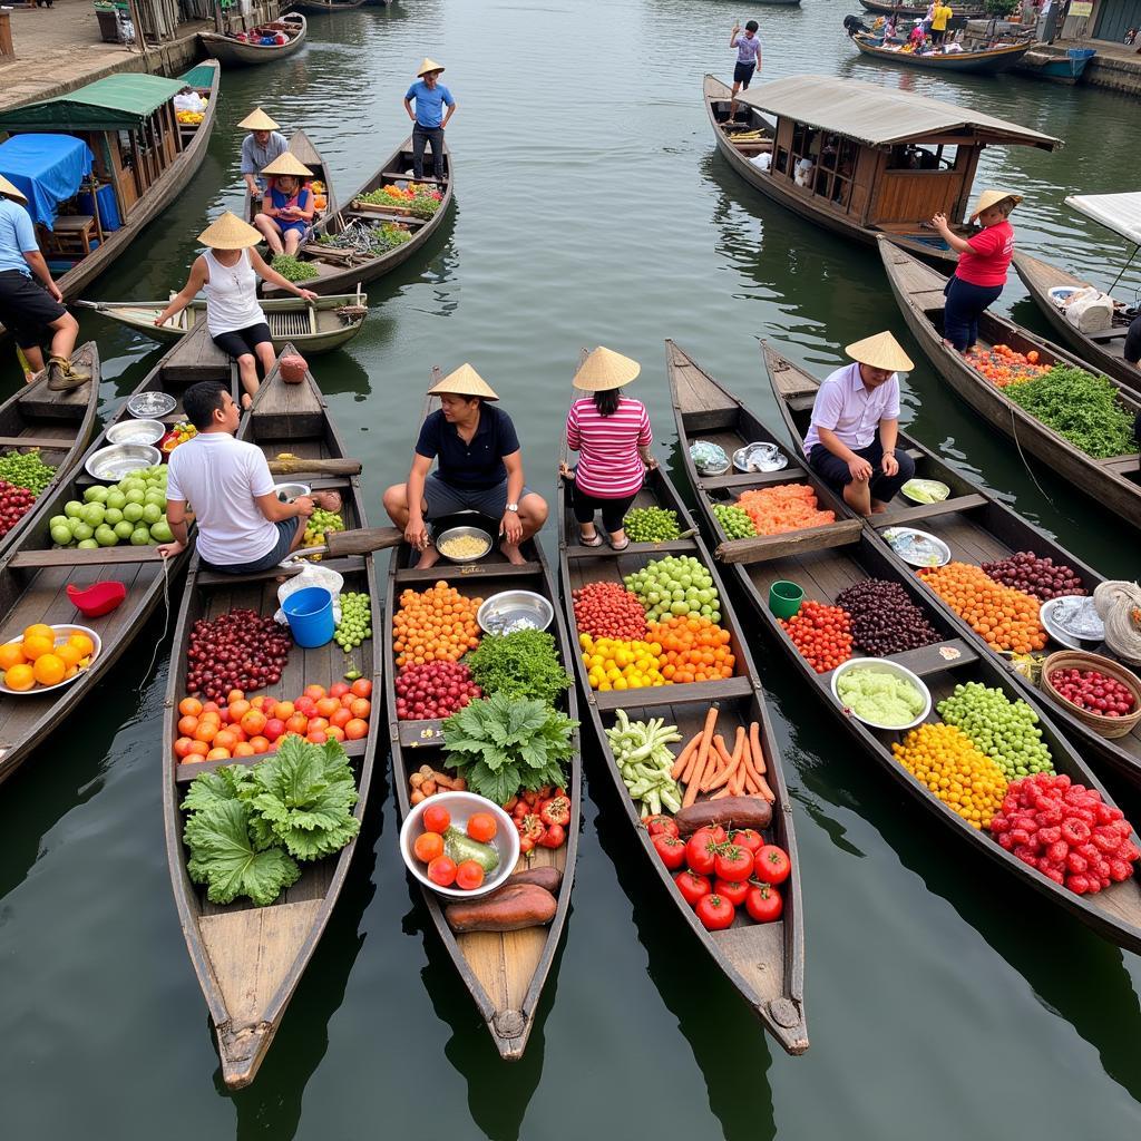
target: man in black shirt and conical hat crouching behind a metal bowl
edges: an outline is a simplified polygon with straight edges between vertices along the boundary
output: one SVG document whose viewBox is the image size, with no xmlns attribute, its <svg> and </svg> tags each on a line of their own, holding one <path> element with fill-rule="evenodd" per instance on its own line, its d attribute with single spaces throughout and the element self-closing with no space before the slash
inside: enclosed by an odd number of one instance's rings
<svg viewBox="0 0 1141 1141">
<path fill-rule="evenodd" d="M 435 566 L 439 552 L 424 524 L 459 511 L 500 520 L 500 550 L 510 563 L 526 560 L 519 544 L 547 521 L 547 501 L 523 478 L 519 437 L 511 418 L 491 404 L 499 397 L 471 367 L 460 365 L 434 388 L 439 411 L 420 427 L 407 483 L 385 492 L 385 510 L 420 552 L 418 567 Z M 431 471 L 431 461 L 438 468 Z"/>
</svg>

